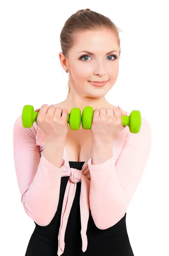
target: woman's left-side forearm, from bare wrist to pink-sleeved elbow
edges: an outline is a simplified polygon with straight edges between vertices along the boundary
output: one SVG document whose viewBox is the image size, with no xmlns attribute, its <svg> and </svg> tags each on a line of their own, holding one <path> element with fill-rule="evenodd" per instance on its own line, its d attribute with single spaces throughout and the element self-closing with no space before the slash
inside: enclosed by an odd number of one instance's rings
<svg viewBox="0 0 169 256">
<path fill-rule="evenodd" d="M 34 180 L 22 198 L 25 211 L 40 226 L 51 222 L 58 207 L 64 145 L 45 142 Z"/>
</svg>

